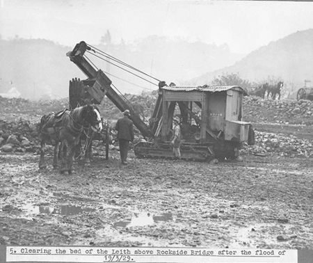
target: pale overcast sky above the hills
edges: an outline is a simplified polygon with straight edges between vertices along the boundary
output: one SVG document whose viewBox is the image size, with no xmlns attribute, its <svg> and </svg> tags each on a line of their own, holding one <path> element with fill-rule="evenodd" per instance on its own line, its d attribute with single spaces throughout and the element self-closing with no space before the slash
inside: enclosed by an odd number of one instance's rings
<svg viewBox="0 0 313 263">
<path fill-rule="evenodd" d="M 45 38 L 72 47 L 147 35 L 182 37 L 248 54 L 313 28 L 313 3 L 282 1 L 0 0 L 2 38 Z"/>
</svg>

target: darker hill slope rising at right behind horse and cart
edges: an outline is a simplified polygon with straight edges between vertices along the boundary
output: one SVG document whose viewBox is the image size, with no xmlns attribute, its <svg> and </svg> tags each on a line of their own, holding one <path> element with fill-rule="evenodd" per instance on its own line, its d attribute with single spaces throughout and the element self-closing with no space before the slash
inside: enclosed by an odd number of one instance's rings
<svg viewBox="0 0 313 263">
<path fill-rule="evenodd" d="M 313 81 L 313 29 L 298 31 L 285 38 L 252 51 L 230 67 L 208 72 L 190 81 L 191 85 L 210 83 L 214 76 L 236 73 L 250 82 L 284 81 L 284 97 L 293 97 L 304 86 L 305 79 Z"/>
</svg>

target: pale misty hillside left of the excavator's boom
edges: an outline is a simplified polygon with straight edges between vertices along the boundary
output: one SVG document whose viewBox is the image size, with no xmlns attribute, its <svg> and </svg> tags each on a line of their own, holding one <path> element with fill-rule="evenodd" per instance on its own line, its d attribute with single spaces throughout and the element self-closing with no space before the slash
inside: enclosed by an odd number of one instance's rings
<svg viewBox="0 0 313 263">
<path fill-rule="evenodd" d="M 69 66 L 65 56 L 69 50 L 47 40 L 0 40 L 0 56 L 5 61 L 0 65 L 0 93 L 14 87 L 29 99 L 67 96 L 70 79 L 84 76 Z"/>
</svg>

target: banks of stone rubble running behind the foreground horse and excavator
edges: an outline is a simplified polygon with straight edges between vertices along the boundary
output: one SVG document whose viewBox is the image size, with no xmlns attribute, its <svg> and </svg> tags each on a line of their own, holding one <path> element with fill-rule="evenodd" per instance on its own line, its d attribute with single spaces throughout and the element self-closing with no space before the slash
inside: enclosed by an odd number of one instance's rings
<svg viewBox="0 0 313 263">
<path fill-rule="evenodd" d="M 143 109 L 152 111 L 154 108 L 154 96 L 127 95 L 131 102 L 143 106 Z M 149 104 L 149 105 L 146 105 Z M 136 105 L 136 104 L 135 104 Z M 137 105 L 138 111 L 141 107 Z M 67 99 L 51 101 L 31 102 L 26 99 L 4 99 L 0 97 L 0 109 L 6 109 L 0 117 L 0 150 L 1 152 L 38 152 L 39 141 L 39 120 L 44 113 L 58 111 L 67 107 Z M 121 117 L 120 111 L 113 106 L 108 99 L 99 106 L 104 119 Z M 103 109 L 102 109 L 103 108 Z M 18 110 L 17 110 L 18 109 Z M 104 109 L 106 113 L 104 114 Z M 245 120 L 260 123 L 284 123 L 285 125 L 302 124 L 313 125 L 313 102 L 308 100 L 272 100 L 259 97 L 245 97 L 243 101 Z M 23 112 L 24 111 L 24 112 Z M 33 112 L 31 112 L 33 111 Z M 144 115 L 149 115 L 142 111 Z M 8 118 L 8 117 L 12 118 Z M 111 121 L 111 127 L 114 121 Z M 136 130 L 136 129 L 135 129 Z M 137 130 L 136 130 L 137 131 Z M 140 134 L 136 134 L 141 138 Z M 310 157 L 313 155 L 312 142 L 300 139 L 296 136 L 285 136 L 278 133 L 255 131 L 255 145 L 246 146 L 244 152 L 253 154 L 281 154 L 284 156 Z"/>
</svg>

